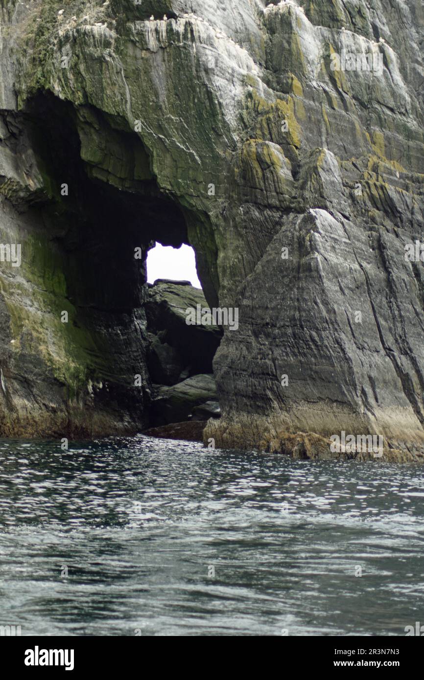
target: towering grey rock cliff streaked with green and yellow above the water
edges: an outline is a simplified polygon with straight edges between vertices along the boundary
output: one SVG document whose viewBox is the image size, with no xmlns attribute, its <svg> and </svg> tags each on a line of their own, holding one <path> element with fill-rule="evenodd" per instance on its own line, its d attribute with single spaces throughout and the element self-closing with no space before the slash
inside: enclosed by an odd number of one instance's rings
<svg viewBox="0 0 424 680">
<path fill-rule="evenodd" d="M 157 239 L 238 309 L 206 438 L 421 456 L 423 22 L 421 0 L 1 0 L 2 434 L 146 426 Z"/>
</svg>

